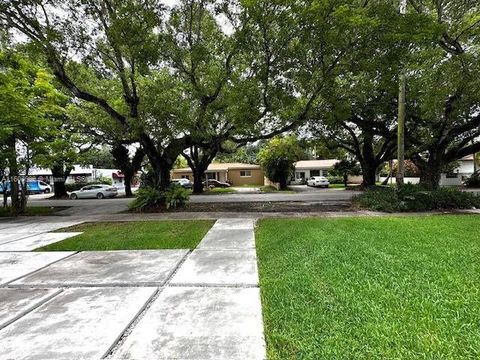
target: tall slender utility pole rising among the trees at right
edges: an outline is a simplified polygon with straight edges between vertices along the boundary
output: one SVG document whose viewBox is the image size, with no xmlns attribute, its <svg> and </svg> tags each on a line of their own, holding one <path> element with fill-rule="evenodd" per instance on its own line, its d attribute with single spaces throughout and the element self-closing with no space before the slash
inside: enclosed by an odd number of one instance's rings
<svg viewBox="0 0 480 360">
<path fill-rule="evenodd" d="M 400 0 L 400 14 L 404 15 L 407 12 L 407 0 Z M 399 77 L 399 92 L 398 92 L 398 130 L 397 130 L 397 187 L 404 184 L 405 176 L 405 113 L 406 113 L 406 87 L 407 79 L 405 70 Z"/>
</svg>

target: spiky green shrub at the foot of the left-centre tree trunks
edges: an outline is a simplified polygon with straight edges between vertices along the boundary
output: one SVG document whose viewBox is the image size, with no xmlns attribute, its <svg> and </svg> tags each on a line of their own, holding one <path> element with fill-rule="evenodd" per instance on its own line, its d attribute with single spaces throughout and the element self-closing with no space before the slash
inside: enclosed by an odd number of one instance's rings
<svg viewBox="0 0 480 360">
<path fill-rule="evenodd" d="M 188 201 L 190 192 L 180 185 L 173 185 L 166 191 L 160 191 L 151 186 L 138 190 L 135 200 L 129 208 L 134 211 L 154 211 L 162 208 L 178 208 Z"/>
</svg>

